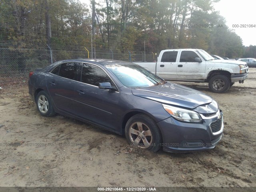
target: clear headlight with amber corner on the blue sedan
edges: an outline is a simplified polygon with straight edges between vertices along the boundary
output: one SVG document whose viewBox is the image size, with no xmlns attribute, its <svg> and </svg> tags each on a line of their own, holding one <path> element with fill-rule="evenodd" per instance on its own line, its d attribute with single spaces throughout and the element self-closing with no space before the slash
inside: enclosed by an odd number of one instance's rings
<svg viewBox="0 0 256 192">
<path fill-rule="evenodd" d="M 190 122 L 190 123 L 201 123 L 201 116 L 194 111 L 190 111 L 187 109 L 182 109 L 178 107 L 173 107 L 169 105 L 162 104 L 166 112 L 168 112 L 172 117 L 176 120 Z"/>
</svg>

